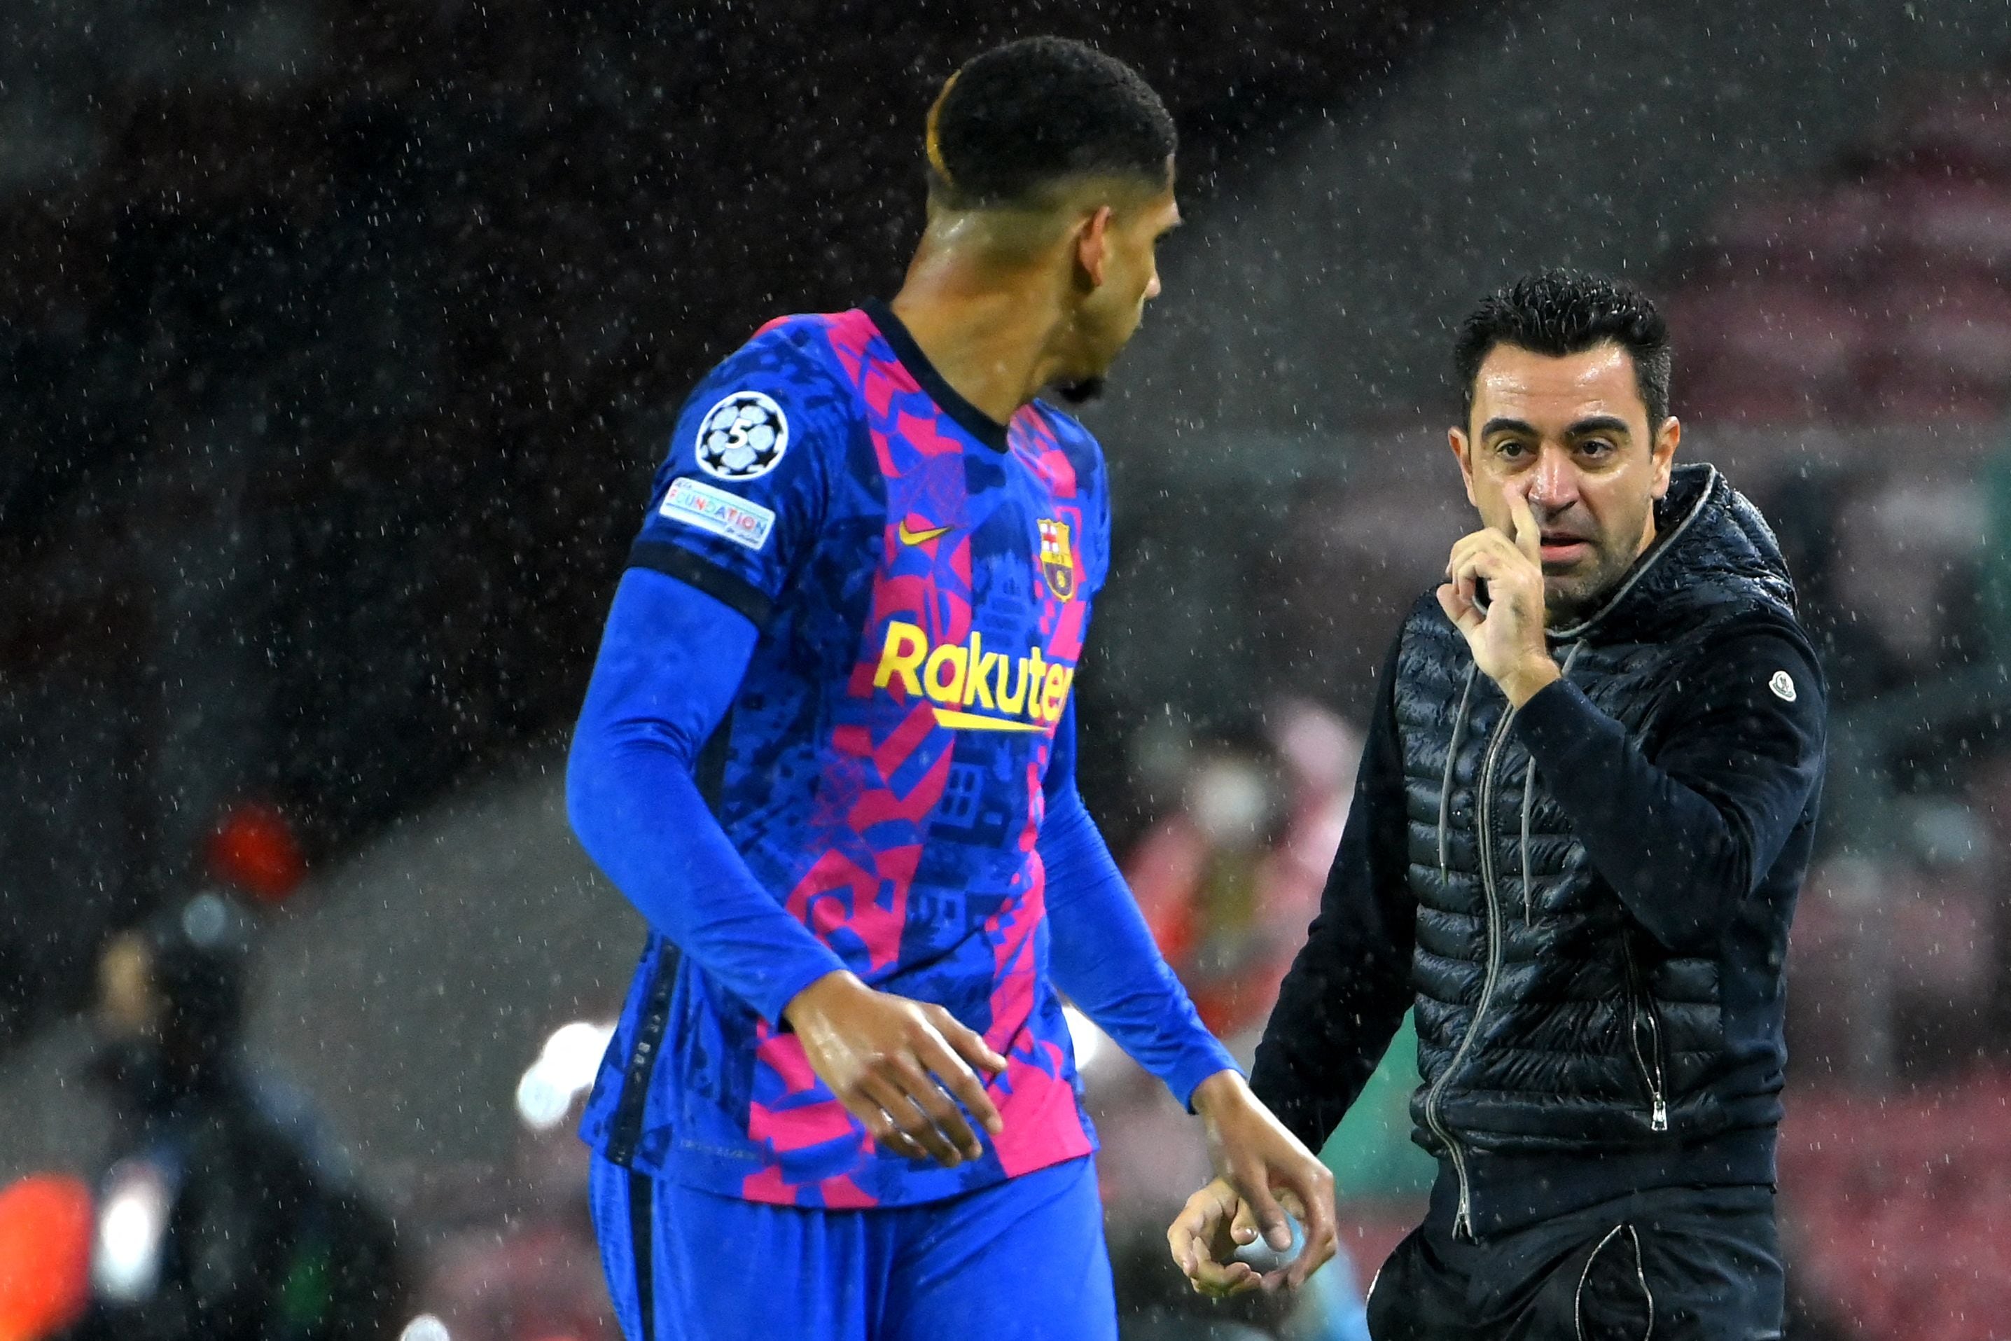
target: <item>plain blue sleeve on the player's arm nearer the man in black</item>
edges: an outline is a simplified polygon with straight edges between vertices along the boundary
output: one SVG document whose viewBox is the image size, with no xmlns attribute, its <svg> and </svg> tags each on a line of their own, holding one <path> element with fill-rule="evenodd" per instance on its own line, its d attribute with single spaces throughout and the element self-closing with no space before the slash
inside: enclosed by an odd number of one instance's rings
<svg viewBox="0 0 2011 1341">
<path fill-rule="evenodd" d="M 1040 860 L 1048 873 L 1054 983 L 1184 1106 L 1235 1058 L 1201 1023 L 1195 1003 L 1152 943 L 1138 901 L 1118 873 L 1076 790 L 1076 708 L 1054 732 Z"/>
</svg>

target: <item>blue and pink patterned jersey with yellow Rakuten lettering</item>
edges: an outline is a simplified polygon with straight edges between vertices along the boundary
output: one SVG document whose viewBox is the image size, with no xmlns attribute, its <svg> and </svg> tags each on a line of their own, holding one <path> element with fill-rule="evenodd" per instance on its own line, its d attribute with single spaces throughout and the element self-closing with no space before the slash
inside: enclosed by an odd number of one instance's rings
<svg viewBox="0 0 2011 1341">
<path fill-rule="evenodd" d="M 1110 513 L 1102 454 L 997 426 L 885 308 L 784 318 L 680 414 L 631 563 L 760 627 L 700 760 L 756 881 L 867 983 L 1010 1060 L 981 1160 L 887 1154 L 794 1033 L 650 937 L 583 1134 L 639 1172 L 782 1204 L 913 1204 L 1094 1150 L 1048 977 L 1036 838 Z"/>
</svg>

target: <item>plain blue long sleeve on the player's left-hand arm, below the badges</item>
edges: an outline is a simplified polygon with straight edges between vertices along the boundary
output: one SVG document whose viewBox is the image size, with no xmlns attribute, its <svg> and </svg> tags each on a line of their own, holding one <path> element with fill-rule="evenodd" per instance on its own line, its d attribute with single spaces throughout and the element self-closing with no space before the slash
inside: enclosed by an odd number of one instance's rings
<svg viewBox="0 0 2011 1341">
<path fill-rule="evenodd" d="M 754 635 L 718 597 L 629 569 L 573 732 L 565 810 L 650 927 L 778 1023 L 790 997 L 845 961 L 754 879 L 692 774 Z"/>
</svg>

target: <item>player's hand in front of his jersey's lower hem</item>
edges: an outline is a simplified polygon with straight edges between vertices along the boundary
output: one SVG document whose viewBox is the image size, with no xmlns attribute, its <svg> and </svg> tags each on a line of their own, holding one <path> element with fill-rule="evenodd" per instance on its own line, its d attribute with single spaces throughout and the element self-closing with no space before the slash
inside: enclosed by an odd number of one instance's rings
<svg viewBox="0 0 2011 1341">
<path fill-rule="evenodd" d="M 995 1076 L 1006 1058 L 941 1005 L 873 991 L 851 973 L 827 973 L 798 991 L 782 1017 L 802 1039 L 816 1078 L 889 1150 L 943 1168 L 983 1156 L 957 1104 L 993 1136 L 1006 1130 L 971 1070 Z"/>
</svg>

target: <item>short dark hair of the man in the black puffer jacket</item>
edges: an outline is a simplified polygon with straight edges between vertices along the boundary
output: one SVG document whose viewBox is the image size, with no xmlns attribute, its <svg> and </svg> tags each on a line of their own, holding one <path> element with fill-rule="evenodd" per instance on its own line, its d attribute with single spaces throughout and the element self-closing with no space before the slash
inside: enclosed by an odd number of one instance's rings
<svg viewBox="0 0 2011 1341">
<path fill-rule="evenodd" d="M 1649 432 L 1669 418 L 1669 324 L 1647 294 L 1623 279 L 1542 269 L 1480 300 L 1452 346 L 1462 418 L 1472 416 L 1474 380 L 1498 344 L 1550 358 L 1617 344 L 1633 358 Z"/>
</svg>

